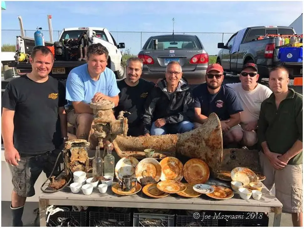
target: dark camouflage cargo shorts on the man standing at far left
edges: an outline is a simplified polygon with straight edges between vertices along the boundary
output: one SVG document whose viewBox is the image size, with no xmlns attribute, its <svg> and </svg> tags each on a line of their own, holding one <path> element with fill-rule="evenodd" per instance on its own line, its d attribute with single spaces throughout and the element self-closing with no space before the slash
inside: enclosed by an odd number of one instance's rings
<svg viewBox="0 0 304 229">
<path fill-rule="evenodd" d="M 44 171 L 46 177 L 49 177 L 60 150 L 48 151 L 40 155 L 20 154 L 18 165 L 13 166 L 13 189 L 18 196 L 31 197 L 35 195 L 34 185 Z M 57 166 L 53 172 L 54 176 L 58 176 L 63 163 L 62 156 L 58 159 Z M 42 184 L 41 184 L 42 185 Z"/>
</svg>

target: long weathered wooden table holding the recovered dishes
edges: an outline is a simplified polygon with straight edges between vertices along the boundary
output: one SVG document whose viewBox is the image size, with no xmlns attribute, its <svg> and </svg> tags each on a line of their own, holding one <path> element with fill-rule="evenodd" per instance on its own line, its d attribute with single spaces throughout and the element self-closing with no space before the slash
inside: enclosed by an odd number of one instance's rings
<svg viewBox="0 0 304 229">
<path fill-rule="evenodd" d="M 104 194 L 94 188 L 93 193 L 86 196 L 82 194 L 82 191 L 74 194 L 66 188 L 55 193 L 41 193 L 39 196 L 40 226 L 46 226 L 45 211 L 49 205 L 274 212 L 273 226 L 280 226 L 282 204 L 264 185 L 262 193 L 259 201 L 252 197 L 249 200 L 243 200 L 236 193 L 228 200 L 214 200 L 204 194 L 197 198 L 186 198 L 177 194 L 151 198 L 142 191 L 130 196 L 118 196 L 113 193 L 111 187 L 108 187 Z"/>
</svg>

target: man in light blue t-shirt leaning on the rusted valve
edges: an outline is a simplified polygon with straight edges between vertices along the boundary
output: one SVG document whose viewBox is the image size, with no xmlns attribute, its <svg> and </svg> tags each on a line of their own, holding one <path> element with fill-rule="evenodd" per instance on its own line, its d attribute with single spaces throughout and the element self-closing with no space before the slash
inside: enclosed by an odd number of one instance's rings
<svg viewBox="0 0 304 229">
<path fill-rule="evenodd" d="M 77 139 L 89 139 L 93 121 L 91 102 L 110 100 L 115 106 L 118 104 L 120 90 L 114 72 L 106 67 L 108 56 L 102 44 L 90 45 L 87 64 L 72 69 L 66 80 L 67 121 L 76 127 Z"/>
</svg>

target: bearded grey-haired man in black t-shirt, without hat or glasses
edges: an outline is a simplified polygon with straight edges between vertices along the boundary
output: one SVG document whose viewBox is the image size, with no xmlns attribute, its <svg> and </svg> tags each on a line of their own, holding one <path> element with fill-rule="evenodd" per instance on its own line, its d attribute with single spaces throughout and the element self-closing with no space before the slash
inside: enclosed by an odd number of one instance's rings
<svg viewBox="0 0 304 229">
<path fill-rule="evenodd" d="M 141 79 L 143 60 L 131 57 L 127 60 L 126 78 L 117 82 L 120 90 L 118 106 L 115 108 L 115 116 L 119 111 L 127 111 L 128 136 L 137 137 L 143 135 L 144 127 L 142 116 L 144 113 L 144 102 L 151 89 L 153 82 Z"/>
</svg>

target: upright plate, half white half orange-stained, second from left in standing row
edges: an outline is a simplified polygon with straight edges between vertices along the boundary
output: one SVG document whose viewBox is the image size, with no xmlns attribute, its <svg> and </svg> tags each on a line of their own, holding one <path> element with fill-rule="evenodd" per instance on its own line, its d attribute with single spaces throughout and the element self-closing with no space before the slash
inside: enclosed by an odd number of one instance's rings
<svg viewBox="0 0 304 229">
<path fill-rule="evenodd" d="M 161 166 L 154 158 L 141 160 L 135 169 L 135 176 L 143 185 L 154 184 L 160 180 Z"/>
</svg>

